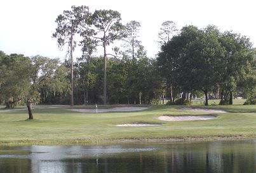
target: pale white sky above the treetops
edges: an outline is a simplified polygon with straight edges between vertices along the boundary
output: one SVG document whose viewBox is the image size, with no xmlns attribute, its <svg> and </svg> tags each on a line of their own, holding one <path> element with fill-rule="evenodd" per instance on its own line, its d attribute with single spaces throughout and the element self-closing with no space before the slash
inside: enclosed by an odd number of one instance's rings
<svg viewBox="0 0 256 173">
<path fill-rule="evenodd" d="M 88 6 L 91 13 L 119 11 L 123 24 L 131 20 L 140 22 L 139 39 L 151 58 L 159 51 L 158 32 L 166 20 L 177 23 L 178 29 L 191 24 L 199 29 L 216 25 L 222 32 L 232 30 L 250 37 L 256 46 L 254 0 L 3 0 L 0 2 L 0 51 L 64 59 L 65 50 L 58 49 L 57 40 L 51 35 L 57 27 L 57 16 L 71 10 L 72 5 Z M 74 57 L 79 56 L 80 48 L 76 48 Z"/>
</svg>

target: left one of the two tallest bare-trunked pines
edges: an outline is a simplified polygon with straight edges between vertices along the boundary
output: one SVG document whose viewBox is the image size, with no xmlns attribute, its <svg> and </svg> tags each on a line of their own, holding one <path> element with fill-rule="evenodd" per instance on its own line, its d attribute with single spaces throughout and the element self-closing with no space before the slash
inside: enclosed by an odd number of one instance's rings
<svg viewBox="0 0 256 173">
<path fill-rule="evenodd" d="M 55 20 L 58 26 L 55 33 L 53 33 L 53 37 L 57 38 L 60 49 L 62 49 L 65 44 L 69 46 L 67 54 L 70 53 L 71 63 L 71 106 L 74 106 L 73 51 L 76 47 L 74 34 L 79 34 L 81 22 L 89 20 L 90 13 L 87 6 L 72 6 L 71 8 L 72 11 L 65 10 L 63 15 L 58 15 Z"/>
</svg>

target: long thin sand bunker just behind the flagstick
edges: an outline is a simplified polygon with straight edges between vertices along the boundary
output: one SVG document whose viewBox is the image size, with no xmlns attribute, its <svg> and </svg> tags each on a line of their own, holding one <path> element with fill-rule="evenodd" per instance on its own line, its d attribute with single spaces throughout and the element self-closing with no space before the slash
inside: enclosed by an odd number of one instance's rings
<svg viewBox="0 0 256 173">
<path fill-rule="evenodd" d="M 148 109 L 148 107 L 116 107 L 116 108 L 109 108 L 109 109 L 98 109 L 98 113 L 139 111 L 139 110 L 146 110 L 146 109 Z M 71 109 L 71 110 L 76 112 L 96 113 L 96 109 Z"/>
</svg>

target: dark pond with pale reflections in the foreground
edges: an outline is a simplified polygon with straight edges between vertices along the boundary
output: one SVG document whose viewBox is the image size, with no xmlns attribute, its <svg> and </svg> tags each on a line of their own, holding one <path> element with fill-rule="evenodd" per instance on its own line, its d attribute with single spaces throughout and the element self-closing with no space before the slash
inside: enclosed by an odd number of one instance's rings
<svg viewBox="0 0 256 173">
<path fill-rule="evenodd" d="M 0 147 L 1 173 L 256 172 L 256 139 Z"/>
</svg>

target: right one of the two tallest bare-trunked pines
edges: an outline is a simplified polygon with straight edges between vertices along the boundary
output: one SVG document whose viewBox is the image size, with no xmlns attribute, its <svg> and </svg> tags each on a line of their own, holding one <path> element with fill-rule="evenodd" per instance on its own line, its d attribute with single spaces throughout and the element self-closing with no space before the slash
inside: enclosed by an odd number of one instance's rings
<svg viewBox="0 0 256 173">
<path fill-rule="evenodd" d="M 121 14 L 113 10 L 95 10 L 92 15 L 92 23 L 95 27 L 93 33 L 97 45 L 100 42 L 104 48 L 104 105 L 107 104 L 107 50 L 109 46 L 116 39 L 122 37 L 121 30 L 123 25 L 120 23 Z"/>
</svg>

